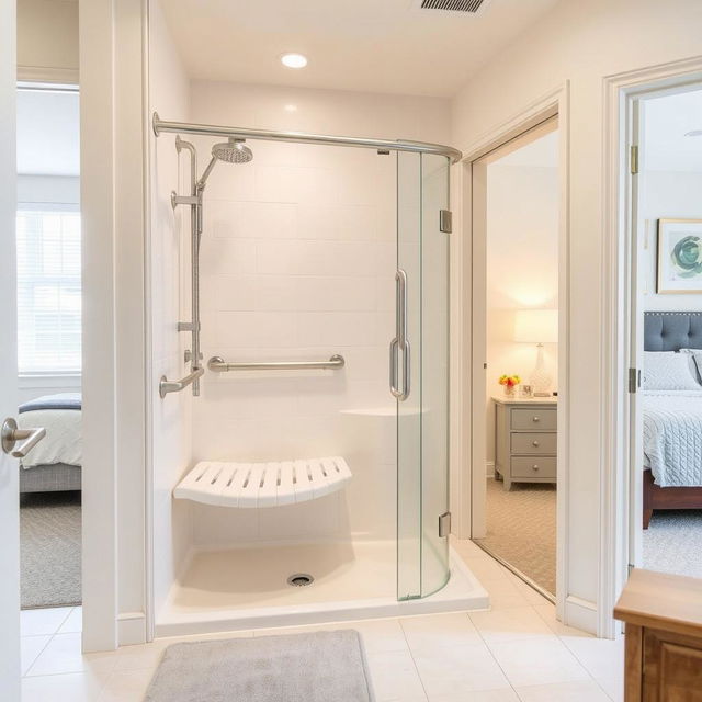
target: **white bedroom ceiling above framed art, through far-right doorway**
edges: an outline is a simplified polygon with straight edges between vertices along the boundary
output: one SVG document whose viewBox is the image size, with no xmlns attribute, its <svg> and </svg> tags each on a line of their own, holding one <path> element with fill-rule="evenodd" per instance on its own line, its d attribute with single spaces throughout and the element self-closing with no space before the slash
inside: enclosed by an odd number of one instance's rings
<svg viewBox="0 0 702 702">
<path fill-rule="evenodd" d="M 702 90 L 647 100 L 644 105 L 644 168 L 702 173 Z"/>
</svg>

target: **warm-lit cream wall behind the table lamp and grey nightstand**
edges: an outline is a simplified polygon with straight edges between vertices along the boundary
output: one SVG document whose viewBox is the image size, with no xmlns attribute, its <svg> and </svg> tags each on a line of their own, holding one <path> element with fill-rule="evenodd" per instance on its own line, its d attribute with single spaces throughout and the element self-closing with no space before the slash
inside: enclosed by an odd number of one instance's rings
<svg viewBox="0 0 702 702">
<path fill-rule="evenodd" d="M 557 150 L 553 159 L 557 161 Z M 486 262 L 486 461 L 491 464 L 495 406 L 490 398 L 503 393 L 498 378 L 518 374 L 529 383 L 536 362 L 535 344 L 513 341 L 514 312 L 558 308 L 556 166 L 488 165 Z M 557 389 L 557 344 L 544 344 L 544 362 Z"/>
</svg>

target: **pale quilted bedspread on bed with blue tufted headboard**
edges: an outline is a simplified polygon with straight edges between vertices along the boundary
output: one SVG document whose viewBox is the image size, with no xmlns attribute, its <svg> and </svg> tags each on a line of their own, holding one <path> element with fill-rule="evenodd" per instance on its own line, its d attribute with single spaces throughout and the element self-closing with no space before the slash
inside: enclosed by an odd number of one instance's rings
<svg viewBox="0 0 702 702">
<path fill-rule="evenodd" d="M 660 487 L 702 486 L 702 389 L 645 390 L 644 465 Z"/>
</svg>

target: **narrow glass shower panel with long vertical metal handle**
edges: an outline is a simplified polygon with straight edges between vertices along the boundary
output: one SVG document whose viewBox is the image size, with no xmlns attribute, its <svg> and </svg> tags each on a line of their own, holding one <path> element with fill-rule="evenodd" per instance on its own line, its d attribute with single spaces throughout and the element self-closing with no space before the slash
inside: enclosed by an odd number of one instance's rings
<svg viewBox="0 0 702 702">
<path fill-rule="evenodd" d="M 397 154 L 397 599 L 421 597 L 421 156 Z M 404 333 L 401 327 L 405 327 Z M 406 343 L 403 343 L 401 336 Z M 403 348 L 404 347 L 404 348 Z"/>
</svg>

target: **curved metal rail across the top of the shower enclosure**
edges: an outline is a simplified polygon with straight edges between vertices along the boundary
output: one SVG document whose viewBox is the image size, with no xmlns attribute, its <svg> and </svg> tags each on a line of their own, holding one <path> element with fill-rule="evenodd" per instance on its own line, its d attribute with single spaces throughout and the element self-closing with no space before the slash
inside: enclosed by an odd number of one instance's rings
<svg viewBox="0 0 702 702">
<path fill-rule="evenodd" d="M 331 136 L 325 134 L 305 134 L 304 132 L 274 132 L 270 129 L 247 129 L 242 127 L 218 126 L 214 124 L 190 124 L 188 122 L 167 122 L 154 113 L 152 128 L 156 136 L 161 132 L 178 134 L 195 134 L 200 136 L 224 136 L 234 139 L 262 139 L 268 141 L 290 141 L 294 144 L 320 144 L 326 146 L 350 146 L 355 148 L 376 149 L 378 151 L 410 151 L 415 154 L 433 154 L 445 156 L 452 163 L 457 163 L 463 154 L 458 149 L 443 144 L 429 141 L 404 141 L 401 139 L 365 139 L 353 136 Z"/>
</svg>

